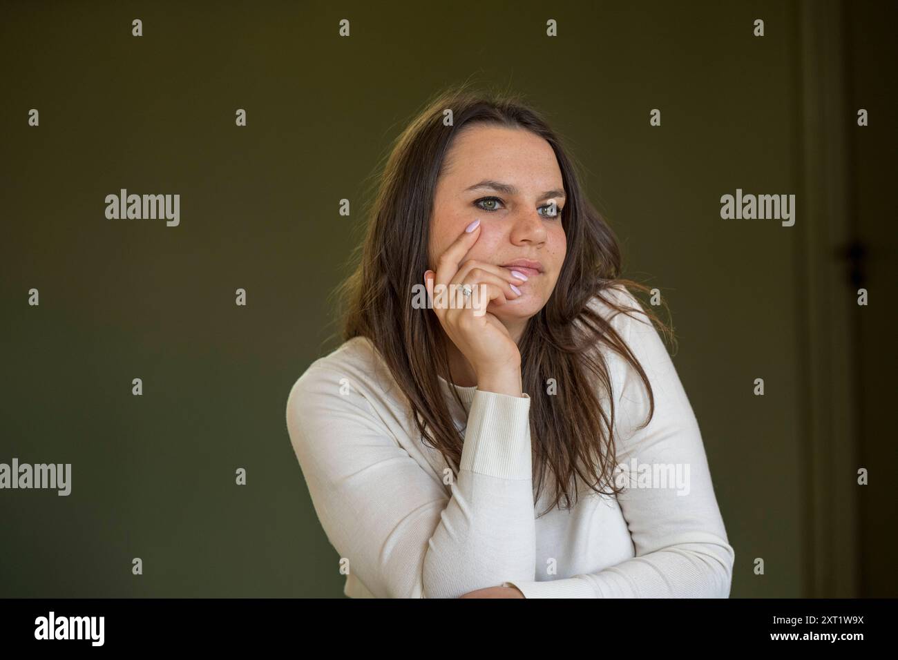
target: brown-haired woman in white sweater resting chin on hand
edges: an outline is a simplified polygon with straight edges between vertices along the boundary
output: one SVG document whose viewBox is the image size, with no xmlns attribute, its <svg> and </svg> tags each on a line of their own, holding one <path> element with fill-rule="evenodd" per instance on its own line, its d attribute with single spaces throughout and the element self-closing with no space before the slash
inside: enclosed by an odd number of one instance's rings
<svg viewBox="0 0 898 660">
<path fill-rule="evenodd" d="M 344 593 L 727 597 L 667 329 L 541 116 L 445 92 L 379 183 L 345 343 L 286 406 Z"/>
</svg>

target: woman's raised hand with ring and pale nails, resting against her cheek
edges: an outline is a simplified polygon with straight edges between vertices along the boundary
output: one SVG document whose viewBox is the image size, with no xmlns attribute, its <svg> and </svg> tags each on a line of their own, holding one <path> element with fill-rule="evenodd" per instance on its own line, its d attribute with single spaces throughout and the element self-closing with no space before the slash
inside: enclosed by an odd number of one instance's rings
<svg viewBox="0 0 898 660">
<path fill-rule="evenodd" d="M 476 224 L 470 232 L 462 233 L 439 256 L 436 273 L 425 271 L 427 295 L 446 335 L 471 364 L 477 375 L 478 387 L 495 392 L 489 389 L 495 386 L 499 390 L 514 392 L 515 379 L 512 376 L 516 374 L 519 384 L 521 353 L 505 324 L 486 310 L 492 301 L 506 304 L 509 299 L 519 297 L 520 293 L 512 287 L 523 284 L 524 280 L 512 276 L 508 268 L 474 260 L 462 262 L 478 236 L 480 224 Z M 440 285 L 445 286 L 446 291 L 435 299 L 435 287 Z M 473 293 L 470 298 L 462 295 L 462 285 L 471 286 Z M 481 292 L 484 295 L 480 295 Z M 439 298 L 445 304 L 440 304 Z M 519 387 L 514 396 L 521 396 Z"/>
</svg>

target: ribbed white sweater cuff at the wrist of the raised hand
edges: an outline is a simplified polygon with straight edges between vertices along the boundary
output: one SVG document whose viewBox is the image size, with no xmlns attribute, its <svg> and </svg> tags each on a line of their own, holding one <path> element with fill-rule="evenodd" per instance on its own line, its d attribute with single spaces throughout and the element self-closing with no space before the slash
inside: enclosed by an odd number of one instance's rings
<svg viewBox="0 0 898 660">
<path fill-rule="evenodd" d="M 527 394 L 474 392 L 459 469 L 500 479 L 533 479 Z"/>
</svg>

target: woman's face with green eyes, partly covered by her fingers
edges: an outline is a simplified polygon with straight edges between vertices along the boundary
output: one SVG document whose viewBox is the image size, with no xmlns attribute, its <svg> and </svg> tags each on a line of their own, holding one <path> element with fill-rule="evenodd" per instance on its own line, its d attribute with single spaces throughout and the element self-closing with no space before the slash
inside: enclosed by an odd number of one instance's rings
<svg viewBox="0 0 898 660">
<path fill-rule="evenodd" d="M 550 215 L 553 199 L 555 216 Z M 462 263 L 539 262 L 536 270 L 506 266 L 527 276 L 518 286 L 522 295 L 488 308 L 500 320 L 530 318 L 549 301 L 564 262 L 564 205 L 561 170 L 548 142 L 525 129 L 464 128 L 436 184 L 429 266 L 436 270 L 439 255 L 479 218 L 480 236 Z"/>
</svg>

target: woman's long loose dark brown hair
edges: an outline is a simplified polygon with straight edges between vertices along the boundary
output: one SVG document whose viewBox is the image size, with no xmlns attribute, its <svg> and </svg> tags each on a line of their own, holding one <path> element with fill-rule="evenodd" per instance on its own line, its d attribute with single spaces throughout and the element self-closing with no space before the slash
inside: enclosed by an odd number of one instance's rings
<svg viewBox="0 0 898 660">
<path fill-rule="evenodd" d="M 452 110 L 452 125 L 444 123 Z M 436 183 L 453 138 L 462 128 L 491 124 L 525 128 L 541 136 L 558 158 L 567 203 L 562 209 L 568 251 L 549 301 L 528 322 L 518 343 L 524 392 L 531 396 L 530 425 L 534 481 L 540 497 L 547 473 L 554 484 L 548 510 L 562 498 L 577 501 L 577 479 L 597 493 L 617 494 L 615 483 L 614 401 L 608 365 L 596 348 L 604 344 L 636 369 L 647 388 L 650 409 L 655 397 L 642 366 L 614 330 L 610 319 L 591 305 L 598 296 L 615 313 L 645 312 L 661 330 L 671 330 L 650 308 L 617 304 L 608 289 L 627 287 L 642 293 L 647 286 L 619 277 L 621 251 L 612 229 L 585 198 L 574 163 L 559 136 L 541 114 L 507 93 L 472 92 L 466 84 L 432 99 L 412 119 L 395 144 L 366 213 L 365 240 L 355 254 L 357 266 L 339 287 L 344 304 L 342 336 L 370 339 L 408 400 L 422 440 L 442 453 L 458 471 L 463 438 L 453 424 L 435 374 L 450 374 L 444 335 L 431 310 L 412 304 L 412 286 L 423 284 L 428 268 L 430 220 Z M 358 252 L 361 252 L 359 255 Z M 436 366 L 436 370 L 435 370 Z M 549 378 L 562 383 L 548 394 Z M 606 411 L 600 395 L 607 394 Z M 462 400 L 456 395 L 459 405 Z M 610 489 L 611 492 L 607 492 Z"/>
</svg>

